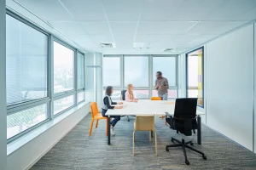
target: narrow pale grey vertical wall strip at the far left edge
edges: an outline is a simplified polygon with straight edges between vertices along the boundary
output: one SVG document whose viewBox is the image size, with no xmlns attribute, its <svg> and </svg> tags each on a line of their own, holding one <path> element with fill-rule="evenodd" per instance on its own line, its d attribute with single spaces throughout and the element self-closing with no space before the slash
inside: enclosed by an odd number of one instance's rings
<svg viewBox="0 0 256 170">
<path fill-rule="evenodd" d="M 0 0 L 0 169 L 6 169 L 5 0 Z"/>
</svg>

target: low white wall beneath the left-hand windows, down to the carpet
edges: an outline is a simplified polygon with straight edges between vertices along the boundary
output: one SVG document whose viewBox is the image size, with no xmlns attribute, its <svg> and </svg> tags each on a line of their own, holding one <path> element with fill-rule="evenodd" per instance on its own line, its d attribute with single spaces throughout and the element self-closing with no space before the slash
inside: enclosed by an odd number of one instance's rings
<svg viewBox="0 0 256 170">
<path fill-rule="evenodd" d="M 32 167 L 70 130 L 73 129 L 90 111 L 90 104 L 84 105 L 78 111 L 67 116 L 61 122 L 50 127 L 29 143 L 15 150 L 7 157 L 7 170 L 24 170 Z M 87 132 L 84 132 L 86 135 Z M 6 143 L 6 139 L 5 139 Z M 6 147 L 5 147 L 6 148 Z M 5 154 L 6 156 L 6 154 Z M 1 170 L 3 170 L 1 168 Z"/>
</svg>

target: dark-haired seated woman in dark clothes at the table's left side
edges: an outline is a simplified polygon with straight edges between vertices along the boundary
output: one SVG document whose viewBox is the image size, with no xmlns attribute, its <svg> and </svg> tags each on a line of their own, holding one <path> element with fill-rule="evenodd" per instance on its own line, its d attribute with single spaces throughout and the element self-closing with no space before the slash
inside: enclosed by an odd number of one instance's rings
<svg viewBox="0 0 256 170">
<path fill-rule="evenodd" d="M 105 96 L 103 98 L 103 103 L 102 103 L 102 116 L 105 116 L 106 112 L 108 111 L 108 109 L 122 109 L 123 106 L 112 106 L 112 105 L 122 105 L 123 102 L 113 102 L 111 99 L 111 95 L 113 94 L 113 87 L 112 86 L 108 86 L 106 88 L 106 93 Z M 107 116 L 105 116 L 107 117 Z M 113 118 L 113 121 L 110 122 L 111 124 L 111 128 L 110 128 L 110 133 L 111 135 L 115 135 L 114 131 L 113 131 L 113 127 L 115 126 L 115 124 L 117 122 L 119 122 L 120 120 L 120 116 L 110 116 Z"/>
</svg>

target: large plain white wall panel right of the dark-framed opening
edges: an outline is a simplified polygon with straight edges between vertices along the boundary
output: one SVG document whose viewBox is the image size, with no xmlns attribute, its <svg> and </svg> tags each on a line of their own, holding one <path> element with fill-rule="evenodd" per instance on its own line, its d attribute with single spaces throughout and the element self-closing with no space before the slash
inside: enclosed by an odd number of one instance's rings
<svg viewBox="0 0 256 170">
<path fill-rule="evenodd" d="M 207 125 L 253 150 L 253 25 L 207 43 Z"/>
</svg>

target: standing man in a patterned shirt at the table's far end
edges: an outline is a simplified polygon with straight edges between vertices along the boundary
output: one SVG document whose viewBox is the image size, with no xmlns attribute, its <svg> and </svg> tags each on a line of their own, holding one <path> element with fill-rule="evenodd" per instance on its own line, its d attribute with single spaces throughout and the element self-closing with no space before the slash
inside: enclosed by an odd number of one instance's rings
<svg viewBox="0 0 256 170">
<path fill-rule="evenodd" d="M 167 100 L 168 98 L 168 80 L 165 77 L 162 77 L 162 72 L 157 71 L 156 72 L 156 80 L 155 80 L 155 89 L 158 92 L 158 96 L 162 100 Z"/>
</svg>

